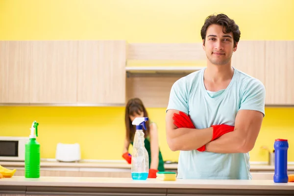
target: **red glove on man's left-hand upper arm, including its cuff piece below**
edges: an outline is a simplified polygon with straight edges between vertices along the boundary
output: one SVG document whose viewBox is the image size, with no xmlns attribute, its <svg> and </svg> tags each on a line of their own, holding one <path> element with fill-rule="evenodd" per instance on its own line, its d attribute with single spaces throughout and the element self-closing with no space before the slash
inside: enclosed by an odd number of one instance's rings
<svg viewBox="0 0 294 196">
<path fill-rule="evenodd" d="M 179 114 L 174 113 L 172 120 L 173 124 L 176 125 L 178 128 L 195 128 L 190 119 L 190 116 L 186 115 L 184 112 L 180 111 Z M 197 150 L 200 152 L 205 151 L 205 145 L 199 147 Z"/>
</svg>

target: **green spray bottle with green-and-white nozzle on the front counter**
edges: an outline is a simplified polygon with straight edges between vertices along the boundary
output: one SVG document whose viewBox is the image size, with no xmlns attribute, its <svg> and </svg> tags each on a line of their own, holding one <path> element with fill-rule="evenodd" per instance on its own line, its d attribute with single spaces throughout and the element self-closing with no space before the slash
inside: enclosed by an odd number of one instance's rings
<svg viewBox="0 0 294 196">
<path fill-rule="evenodd" d="M 38 137 L 38 125 L 36 121 L 30 128 L 29 142 L 25 144 L 25 177 L 40 177 L 40 144 L 36 141 Z M 36 135 L 35 135 L 36 133 Z"/>
</svg>

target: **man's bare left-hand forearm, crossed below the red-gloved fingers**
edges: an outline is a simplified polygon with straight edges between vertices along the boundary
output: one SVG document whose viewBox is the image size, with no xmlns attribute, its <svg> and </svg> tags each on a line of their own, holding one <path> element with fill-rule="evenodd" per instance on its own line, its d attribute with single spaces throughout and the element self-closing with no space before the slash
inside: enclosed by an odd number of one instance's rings
<svg viewBox="0 0 294 196">
<path fill-rule="evenodd" d="M 195 150 L 211 141 L 213 134 L 212 127 L 205 129 L 177 128 L 171 131 L 168 142 L 173 151 Z"/>
</svg>

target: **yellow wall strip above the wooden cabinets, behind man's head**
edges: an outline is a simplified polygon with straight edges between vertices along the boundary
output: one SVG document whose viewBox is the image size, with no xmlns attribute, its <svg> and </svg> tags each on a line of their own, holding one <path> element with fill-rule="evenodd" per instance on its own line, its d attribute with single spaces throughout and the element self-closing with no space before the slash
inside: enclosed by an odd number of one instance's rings
<svg viewBox="0 0 294 196">
<path fill-rule="evenodd" d="M 216 12 L 243 40 L 293 40 L 293 10 L 293 0 L 0 0 L 0 39 L 199 42 Z"/>
</svg>

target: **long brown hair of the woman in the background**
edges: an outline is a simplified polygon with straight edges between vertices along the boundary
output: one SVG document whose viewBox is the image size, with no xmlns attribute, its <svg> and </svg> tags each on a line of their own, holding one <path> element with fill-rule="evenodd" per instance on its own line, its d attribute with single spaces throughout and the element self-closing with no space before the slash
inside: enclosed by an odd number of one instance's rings
<svg viewBox="0 0 294 196">
<path fill-rule="evenodd" d="M 125 106 L 125 129 L 126 129 L 126 138 L 129 141 L 133 141 L 134 140 L 134 136 L 135 136 L 135 131 L 136 131 L 136 126 L 132 125 L 132 122 L 130 120 L 130 115 L 134 115 L 134 114 L 140 114 L 140 113 L 144 113 L 144 117 L 148 117 L 148 113 L 146 108 L 144 107 L 144 104 L 142 102 L 141 99 L 139 98 L 132 98 L 130 99 L 126 106 Z M 148 120 L 146 122 L 146 128 L 147 130 L 143 130 L 144 134 L 145 134 L 145 138 L 149 135 L 150 132 L 150 128 L 149 128 L 149 121 Z"/>
</svg>

